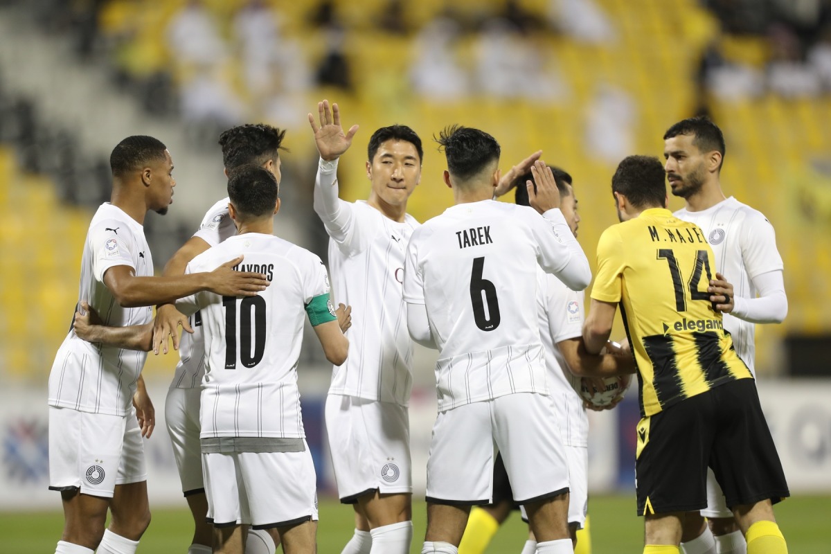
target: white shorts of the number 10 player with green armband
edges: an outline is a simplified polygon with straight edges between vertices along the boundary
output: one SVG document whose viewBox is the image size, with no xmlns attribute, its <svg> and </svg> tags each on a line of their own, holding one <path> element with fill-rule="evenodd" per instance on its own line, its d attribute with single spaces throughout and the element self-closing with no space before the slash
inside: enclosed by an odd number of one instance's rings
<svg viewBox="0 0 831 554">
<path fill-rule="evenodd" d="M 303 452 L 202 454 L 208 521 L 267 529 L 317 520 L 317 477 L 303 444 Z"/>
</svg>

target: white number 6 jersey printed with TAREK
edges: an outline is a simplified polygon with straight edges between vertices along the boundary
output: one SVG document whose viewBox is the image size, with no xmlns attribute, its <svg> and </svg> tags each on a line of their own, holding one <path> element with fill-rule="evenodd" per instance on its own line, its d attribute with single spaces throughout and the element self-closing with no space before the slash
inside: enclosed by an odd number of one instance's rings
<svg viewBox="0 0 831 554">
<path fill-rule="evenodd" d="M 439 348 L 440 410 L 519 392 L 548 394 L 537 268 L 565 272 L 579 252 L 585 282 L 590 278 L 585 254 L 555 213 L 548 221 L 534 208 L 483 200 L 447 208 L 413 233 L 404 299 L 426 307 Z"/>
</svg>

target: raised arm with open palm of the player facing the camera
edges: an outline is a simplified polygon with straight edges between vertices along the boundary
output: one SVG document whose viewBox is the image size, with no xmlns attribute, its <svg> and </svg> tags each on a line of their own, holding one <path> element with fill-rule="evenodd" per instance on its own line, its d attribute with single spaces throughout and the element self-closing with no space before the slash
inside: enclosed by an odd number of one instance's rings
<svg viewBox="0 0 831 554">
<path fill-rule="evenodd" d="M 349 204 L 339 198 L 337 159 L 349 150 L 358 126 L 352 125 L 352 128 L 344 133 L 341 126 L 341 112 L 337 104 L 333 104 L 330 110 L 329 101 L 326 100 L 317 102 L 317 115 L 317 120 L 314 115 L 308 115 L 317 152 L 320 154 L 320 163 L 315 178 L 313 208 L 332 238 L 342 242 L 351 226 L 353 214 Z"/>
</svg>

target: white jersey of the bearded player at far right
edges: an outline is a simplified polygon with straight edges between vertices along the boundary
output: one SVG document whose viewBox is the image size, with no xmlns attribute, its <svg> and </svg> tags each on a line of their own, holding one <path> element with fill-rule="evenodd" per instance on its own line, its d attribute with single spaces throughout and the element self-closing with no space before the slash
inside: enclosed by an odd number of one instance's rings
<svg viewBox="0 0 831 554">
<path fill-rule="evenodd" d="M 712 277 L 715 278 L 716 271 L 724 275 L 737 297 L 755 298 L 756 290 L 750 280 L 784 269 L 773 225 L 761 212 L 732 196 L 700 212 L 680 209 L 675 216 L 696 223 L 704 231 L 715 254 Z M 725 314 L 724 326 L 733 337 L 736 353 L 755 375 L 755 324 Z"/>
</svg>

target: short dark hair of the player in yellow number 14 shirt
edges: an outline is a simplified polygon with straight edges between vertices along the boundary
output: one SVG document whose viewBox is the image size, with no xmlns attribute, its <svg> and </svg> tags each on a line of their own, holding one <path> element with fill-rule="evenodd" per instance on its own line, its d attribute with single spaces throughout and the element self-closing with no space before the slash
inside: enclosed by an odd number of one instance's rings
<svg viewBox="0 0 831 554">
<path fill-rule="evenodd" d="M 627 156 L 612 175 L 612 193 L 623 194 L 635 208 L 666 205 L 664 164 L 654 156 Z"/>
</svg>

